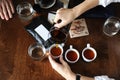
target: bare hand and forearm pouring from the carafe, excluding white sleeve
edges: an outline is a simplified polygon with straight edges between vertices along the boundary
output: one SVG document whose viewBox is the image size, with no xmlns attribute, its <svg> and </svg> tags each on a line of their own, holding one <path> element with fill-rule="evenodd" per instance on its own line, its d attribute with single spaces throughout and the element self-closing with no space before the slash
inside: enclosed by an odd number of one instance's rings
<svg viewBox="0 0 120 80">
<path fill-rule="evenodd" d="M 61 8 L 57 10 L 54 22 L 55 27 L 61 28 L 72 22 L 75 18 L 83 14 L 85 11 L 97 6 L 99 4 L 99 0 L 85 0 L 81 4 L 71 8 L 65 9 Z M 61 20 L 60 23 L 58 21 Z"/>
</svg>

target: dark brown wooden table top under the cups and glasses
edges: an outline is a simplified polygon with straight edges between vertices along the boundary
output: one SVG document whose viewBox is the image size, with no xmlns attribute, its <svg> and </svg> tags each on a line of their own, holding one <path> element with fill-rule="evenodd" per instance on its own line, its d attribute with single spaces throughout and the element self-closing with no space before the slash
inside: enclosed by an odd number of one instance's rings
<svg viewBox="0 0 120 80">
<path fill-rule="evenodd" d="M 120 6 L 119 6 L 120 7 Z M 120 16 L 117 14 L 117 16 Z M 86 18 L 89 35 L 71 39 L 69 36 L 64 51 L 73 45 L 80 52 L 80 59 L 69 64 L 75 73 L 86 76 L 108 75 L 120 79 L 120 32 L 108 37 L 102 31 L 105 19 Z M 2 21 L 0 26 L 0 80 L 64 80 L 54 71 L 48 61 L 34 61 L 28 55 L 28 47 L 35 40 L 24 29 L 27 22 L 14 18 Z M 81 52 L 90 43 L 97 51 L 97 58 L 90 63 L 83 61 Z"/>
</svg>

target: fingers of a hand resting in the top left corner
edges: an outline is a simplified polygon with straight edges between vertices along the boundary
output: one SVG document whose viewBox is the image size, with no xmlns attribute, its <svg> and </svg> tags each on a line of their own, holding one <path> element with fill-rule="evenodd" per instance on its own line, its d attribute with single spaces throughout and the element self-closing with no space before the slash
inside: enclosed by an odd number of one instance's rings
<svg viewBox="0 0 120 80">
<path fill-rule="evenodd" d="M 14 7 L 12 0 L 0 0 L 0 17 L 5 20 L 12 18 Z"/>
</svg>

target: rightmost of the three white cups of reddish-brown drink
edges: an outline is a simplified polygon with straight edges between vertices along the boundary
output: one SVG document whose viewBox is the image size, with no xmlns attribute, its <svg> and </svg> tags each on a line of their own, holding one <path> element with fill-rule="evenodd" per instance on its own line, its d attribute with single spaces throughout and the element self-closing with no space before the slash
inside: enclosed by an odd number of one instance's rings
<svg viewBox="0 0 120 80">
<path fill-rule="evenodd" d="M 91 62 L 95 60 L 97 57 L 97 52 L 94 48 L 90 46 L 90 44 L 87 44 L 87 47 L 83 49 L 82 51 L 82 58 L 86 62 Z"/>
</svg>

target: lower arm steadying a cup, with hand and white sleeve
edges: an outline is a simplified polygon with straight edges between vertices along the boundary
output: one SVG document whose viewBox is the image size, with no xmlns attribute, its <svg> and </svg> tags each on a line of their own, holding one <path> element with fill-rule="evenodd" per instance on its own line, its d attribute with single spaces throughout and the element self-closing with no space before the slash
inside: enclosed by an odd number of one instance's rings
<svg viewBox="0 0 120 80">
<path fill-rule="evenodd" d="M 61 64 L 53 60 L 50 55 L 48 57 L 52 68 L 56 70 L 62 77 L 64 77 L 66 80 L 76 80 L 76 74 L 72 72 L 67 62 L 63 60 L 62 56 L 60 57 Z M 109 78 L 107 75 L 94 76 L 94 78 L 91 78 L 80 74 L 79 80 L 115 80 L 115 79 Z"/>
</svg>

